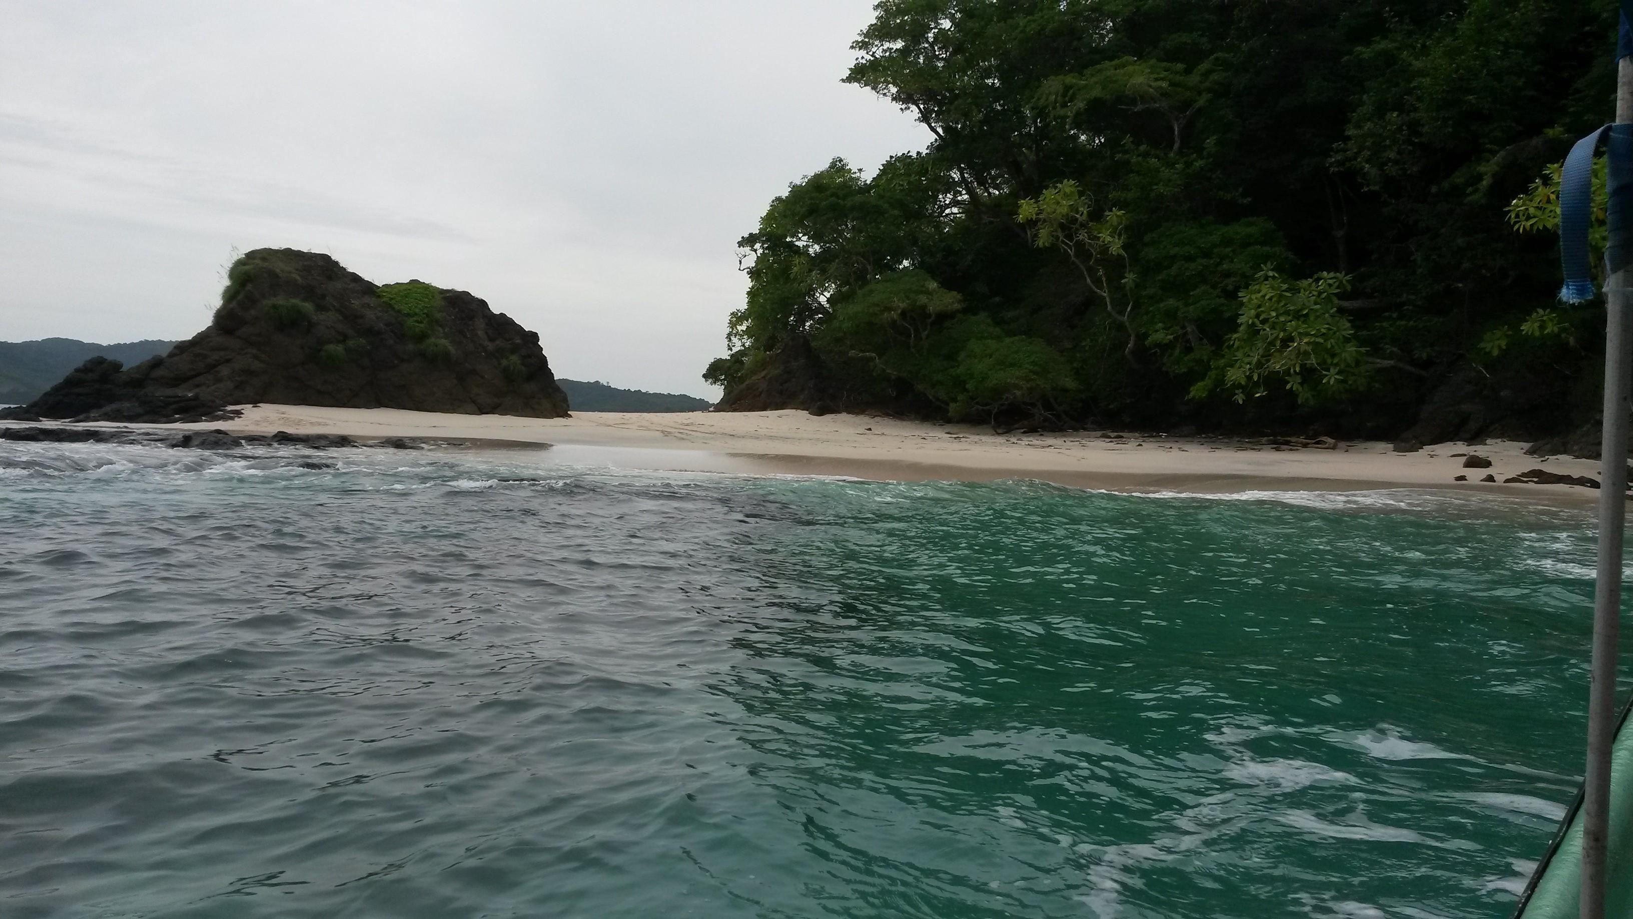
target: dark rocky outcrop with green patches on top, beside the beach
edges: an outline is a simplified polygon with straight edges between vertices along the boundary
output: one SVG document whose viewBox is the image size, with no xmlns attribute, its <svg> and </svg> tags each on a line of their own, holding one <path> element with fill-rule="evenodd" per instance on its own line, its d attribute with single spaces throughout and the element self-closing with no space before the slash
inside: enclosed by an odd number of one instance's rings
<svg viewBox="0 0 1633 919">
<path fill-rule="evenodd" d="M 109 368 L 108 363 L 116 366 Z M 142 404 L 284 402 L 567 415 L 539 335 L 482 299 L 420 281 L 377 286 L 328 255 L 256 249 L 234 263 L 207 329 L 127 370 L 82 366 L 20 417 L 145 420 Z M 82 392 L 75 379 L 95 381 Z M 181 412 L 196 414 L 196 412 Z M 134 417 L 132 417 L 134 415 Z"/>
</svg>

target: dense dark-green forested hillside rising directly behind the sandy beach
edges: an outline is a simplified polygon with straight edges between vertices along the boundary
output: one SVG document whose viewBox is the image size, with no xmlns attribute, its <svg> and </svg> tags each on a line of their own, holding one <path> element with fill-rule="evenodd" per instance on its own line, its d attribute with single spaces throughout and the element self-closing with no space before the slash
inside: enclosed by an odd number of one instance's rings
<svg viewBox="0 0 1633 919">
<path fill-rule="evenodd" d="M 1591 424 L 1602 304 L 1509 211 L 1609 119 L 1613 46 L 1577 0 L 882 0 L 846 82 L 934 141 L 771 203 L 704 376 L 996 425 Z"/>
</svg>

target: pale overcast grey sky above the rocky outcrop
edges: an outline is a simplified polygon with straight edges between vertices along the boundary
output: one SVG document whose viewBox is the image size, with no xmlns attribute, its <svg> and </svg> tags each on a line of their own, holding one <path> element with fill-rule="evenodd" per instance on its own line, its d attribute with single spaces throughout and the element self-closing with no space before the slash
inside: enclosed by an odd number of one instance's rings
<svg viewBox="0 0 1633 919">
<path fill-rule="evenodd" d="M 0 340 L 186 338 L 225 267 L 467 289 L 557 376 L 717 396 L 736 240 L 923 147 L 869 0 L 0 0 Z"/>
</svg>

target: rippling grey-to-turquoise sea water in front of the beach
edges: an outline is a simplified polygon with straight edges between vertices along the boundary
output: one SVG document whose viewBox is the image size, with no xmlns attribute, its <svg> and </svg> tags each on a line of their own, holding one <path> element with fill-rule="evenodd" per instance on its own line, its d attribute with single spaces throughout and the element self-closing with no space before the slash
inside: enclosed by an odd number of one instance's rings
<svg viewBox="0 0 1633 919">
<path fill-rule="evenodd" d="M 1586 512 L 562 456 L 0 445 L 0 914 L 1486 917 L 1576 790 Z"/>
</svg>

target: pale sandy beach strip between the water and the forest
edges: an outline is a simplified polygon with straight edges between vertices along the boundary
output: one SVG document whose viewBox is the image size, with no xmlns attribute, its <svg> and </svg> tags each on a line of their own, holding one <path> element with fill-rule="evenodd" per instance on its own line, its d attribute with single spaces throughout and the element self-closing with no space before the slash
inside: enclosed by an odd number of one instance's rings
<svg viewBox="0 0 1633 919">
<path fill-rule="evenodd" d="M 1435 489 L 1589 504 L 1597 489 L 1502 484 L 1525 469 L 1599 477 L 1599 463 L 1524 453 L 1519 442 L 1478 446 L 1442 443 L 1395 453 L 1377 442 L 1336 448 L 1269 440 L 1140 435 L 1127 430 L 996 435 L 978 425 L 949 425 L 870 415 L 781 412 L 578 412 L 570 419 L 456 415 L 403 409 L 243 406 L 230 422 L 85 427 L 225 430 L 229 433 L 331 433 L 363 440 L 418 438 L 470 446 L 570 446 L 591 463 L 670 471 L 852 476 L 900 481 L 990 481 L 1032 477 L 1104 491 L 1248 492 Z M 46 422 L 52 427 L 62 422 Z M 1463 469 L 1462 456 L 1491 460 Z M 1484 474 L 1497 482 L 1483 484 Z M 1468 482 L 1457 482 L 1468 476 Z"/>
</svg>

